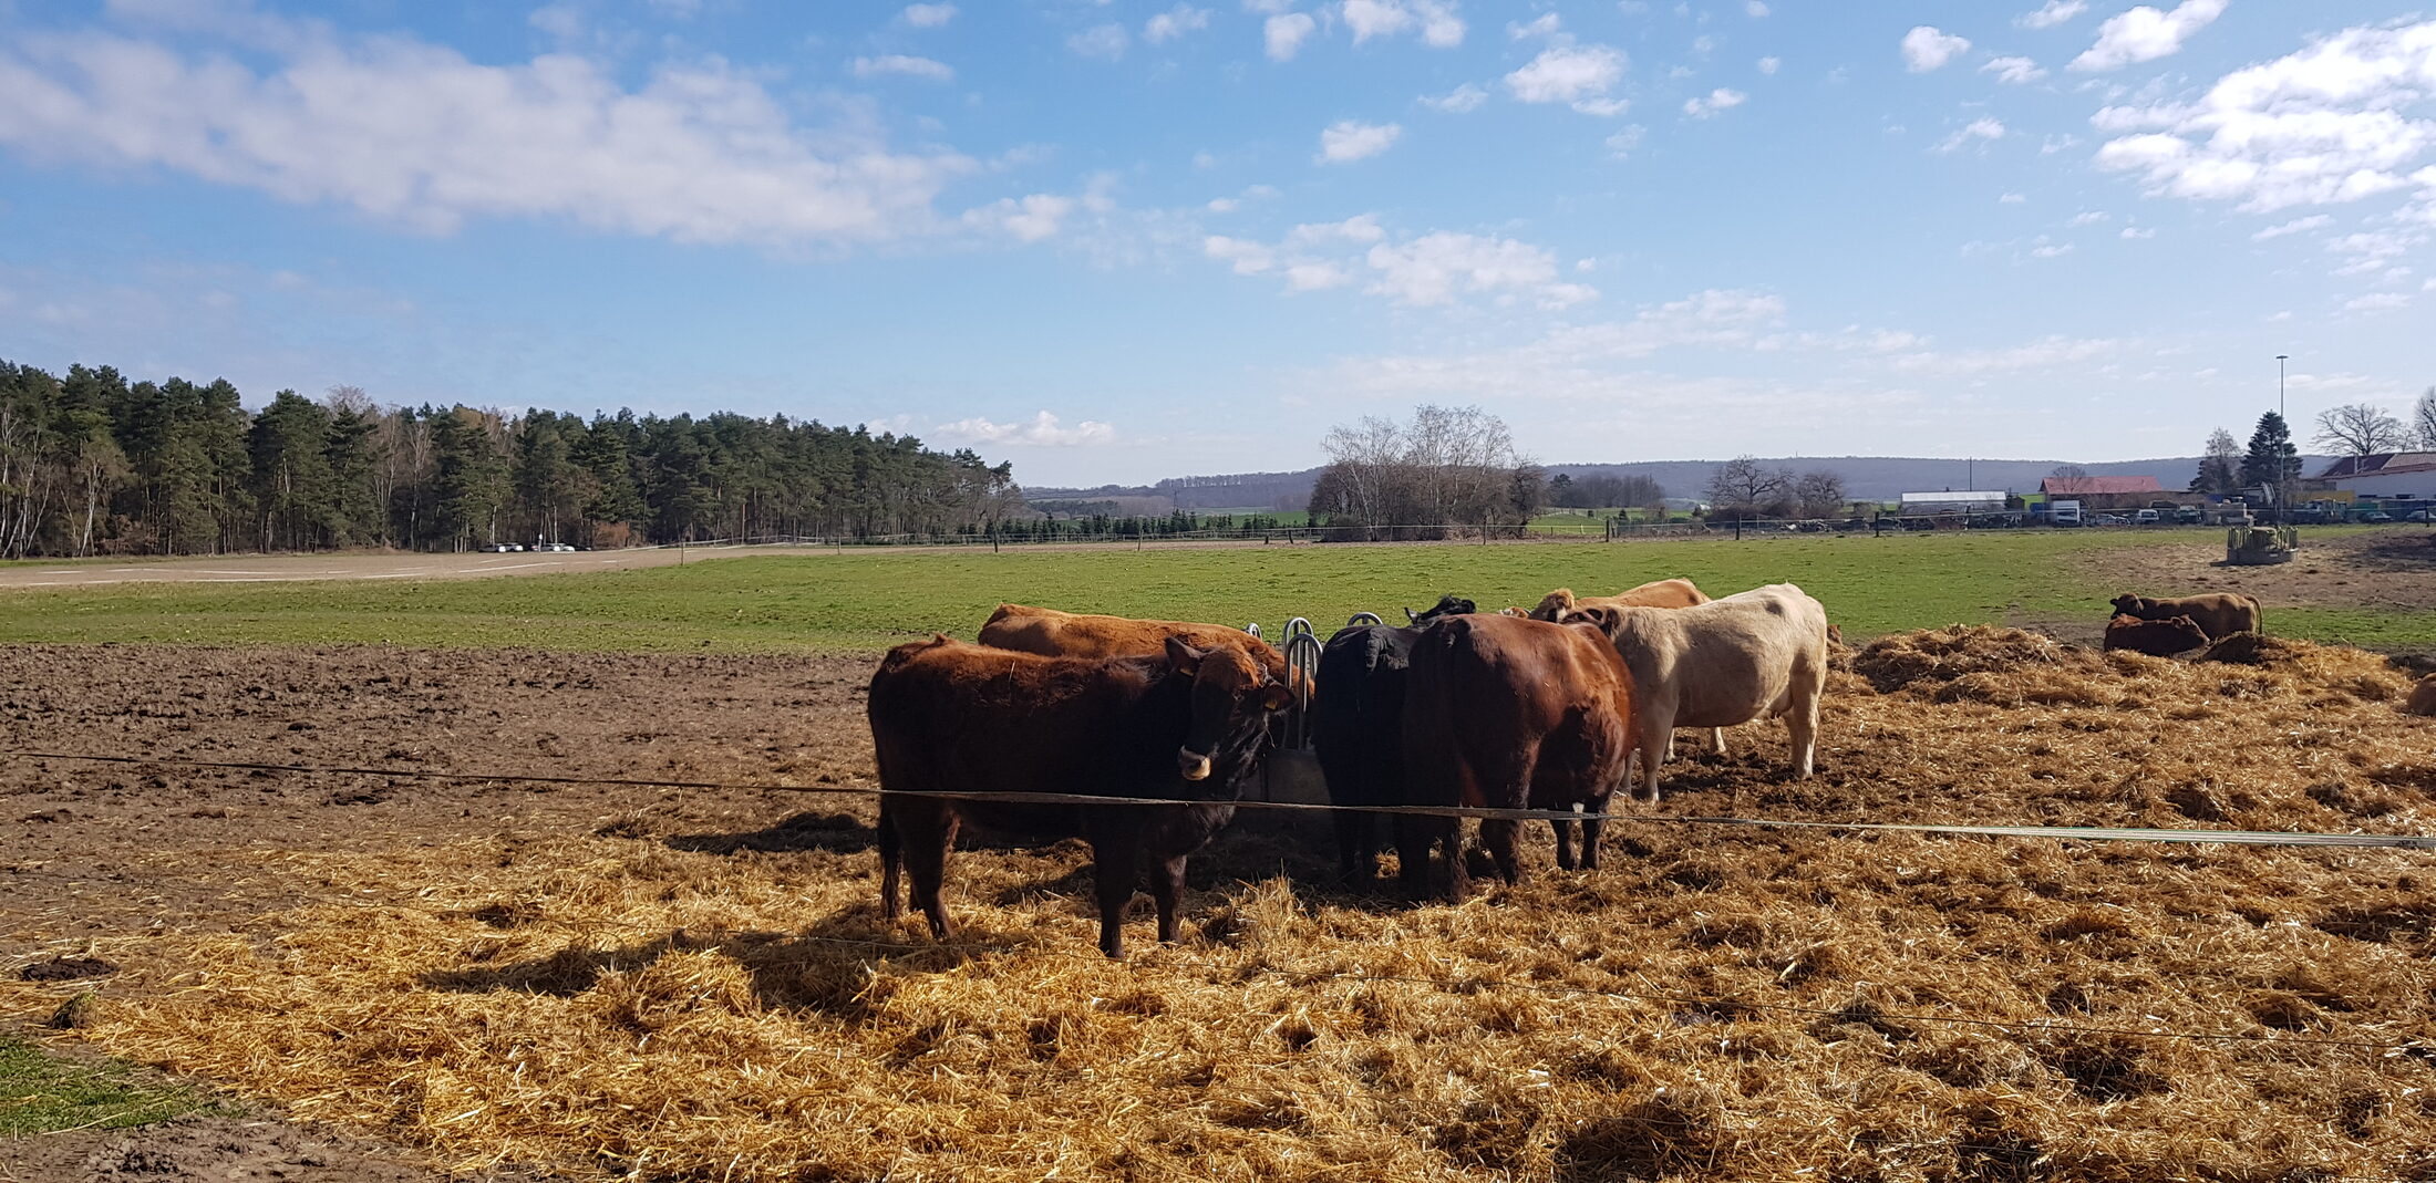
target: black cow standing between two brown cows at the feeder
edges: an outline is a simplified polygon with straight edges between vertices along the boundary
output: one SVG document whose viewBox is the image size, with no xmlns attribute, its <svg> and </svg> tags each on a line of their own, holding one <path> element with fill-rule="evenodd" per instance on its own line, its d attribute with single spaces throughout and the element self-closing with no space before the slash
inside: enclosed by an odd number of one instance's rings
<svg viewBox="0 0 2436 1183">
<path fill-rule="evenodd" d="M 1427 611 L 1406 609 L 1413 621 L 1396 626 L 1347 626 L 1320 647 L 1311 745 L 1328 776 L 1328 798 L 1340 806 L 1396 806 L 1403 794 L 1403 682 L 1413 640 L 1432 621 L 1471 616 L 1469 599 L 1440 596 Z M 1345 879 L 1376 871 L 1379 815 L 1337 813 L 1337 864 Z"/>
</svg>

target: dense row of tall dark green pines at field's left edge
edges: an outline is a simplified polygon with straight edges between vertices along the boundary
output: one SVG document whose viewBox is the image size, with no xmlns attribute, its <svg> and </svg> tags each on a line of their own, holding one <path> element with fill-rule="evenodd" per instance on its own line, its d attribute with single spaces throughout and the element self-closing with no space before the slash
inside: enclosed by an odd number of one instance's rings
<svg viewBox="0 0 2436 1183">
<path fill-rule="evenodd" d="M 743 414 L 380 407 L 0 360 L 0 555 L 755 536 L 955 536 L 1021 514 L 1011 465 Z"/>
</svg>

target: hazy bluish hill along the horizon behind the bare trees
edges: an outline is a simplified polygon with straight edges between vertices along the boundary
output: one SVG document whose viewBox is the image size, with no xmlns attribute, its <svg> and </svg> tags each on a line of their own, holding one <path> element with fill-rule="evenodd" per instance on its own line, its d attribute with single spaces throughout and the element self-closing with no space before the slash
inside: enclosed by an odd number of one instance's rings
<svg viewBox="0 0 2436 1183">
<path fill-rule="evenodd" d="M 2302 470 L 2317 472 L 2331 458 L 2302 455 Z M 2073 460 L 1944 460 L 1917 455 L 1781 455 L 1761 458 L 1769 467 L 1810 472 L 1825 467 L 1844 477 L 1844 497 L 1856 501 L 1893 501 L 1907 492 L 2002 489 L 2039 492 L 2039 480 Z M 1635 460 L 1622 465 L 1547 465 L 1554 477 L 1649 477 L 1666 497 L 1700 497 L 1717 460 Z M 2083 462 L 2093 477 L 2156 477 L 2166 489 L 2188 489 L 2200 472 L 2197 455 L 2158 460 Z M 1237 472 L 1218 477 L 1169 477 L 1157 484 L 1101 484 L 1099 489 L 1033 489 L 1028 501 L 1121 501 L 1128 514 L 1167 514 L 1174 509 L 1303 509 L 1318 467 L 1301 472 Z"/>
</svg>

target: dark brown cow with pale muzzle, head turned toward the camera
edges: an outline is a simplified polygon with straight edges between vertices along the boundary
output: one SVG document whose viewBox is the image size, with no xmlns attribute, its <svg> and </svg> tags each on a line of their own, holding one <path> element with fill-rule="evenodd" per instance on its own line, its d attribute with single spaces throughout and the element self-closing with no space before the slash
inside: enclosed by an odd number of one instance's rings
<svg viewBox="0 0 2436 1183">
<path fill-rule="evenodd" d="M 872 674 L 879 757 L 879 903 L 896 918 L 899 859 L 914 906 L 948 940 L 940 879 L 960 823 L 1082 835 L 1099 884 L 1099 947 L 1123 957 L 1123 913 L 1152 864 L 1160 940 L 1177 937 L 1184 857 L 1228 818 L 1259 762 L 1286 686 L 1237 645 L 1169 638 L 1160 657 L 1038 657 L 933 638 L 896 645 Z M 948 794 L 1155 796 L 1164 806 L 1060 806 Z"/>
</svg>

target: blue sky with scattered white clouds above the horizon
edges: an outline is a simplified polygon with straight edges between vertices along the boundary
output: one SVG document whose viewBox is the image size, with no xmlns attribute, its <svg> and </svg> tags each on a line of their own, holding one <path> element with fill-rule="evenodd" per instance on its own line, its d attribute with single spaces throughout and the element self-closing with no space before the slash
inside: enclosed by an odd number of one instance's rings
<svg viewBox="0 0 2436 1183">
<path fill-rule="evenodd" d="M 2431 236 L 2387 2 L 0 0 L 0 358 L 1030 484 L 2190 455 L 2436 385 Z"/>
</svg>

